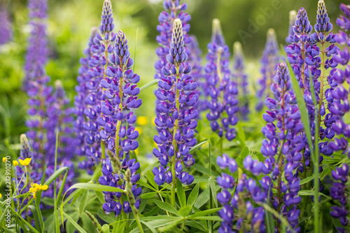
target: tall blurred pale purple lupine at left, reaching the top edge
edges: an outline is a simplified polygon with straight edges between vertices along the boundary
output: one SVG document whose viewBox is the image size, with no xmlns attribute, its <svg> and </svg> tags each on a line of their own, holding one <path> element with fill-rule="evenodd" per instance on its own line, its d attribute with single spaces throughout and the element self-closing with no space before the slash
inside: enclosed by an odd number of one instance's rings
<svg viewBox="0 0 350 233">
<path fill-rule="evenodd" d="M 55 102 L 52 96 L 52 87 L 48 86 L 50 77 L 45 75 L 46 62 L 46 34 L 45 18 L 47 5 L 45 0 L 31 0 L 28 3 L 29 23 L 31 33 L 29 36 L 26 56 L 25 90 L 29 96 L 28 115 L 26 122 L 29 132 L 27 136 L 33 147 L 33 156 L 36 158 L 34 169 L 45 167 L 45 158 L 55 157 L 55 114 L 48 111 Z M 51 134 L 48 134 L 51 132 Z M 41 163 L 41 164 L 39 164 Z"/>
</svg>

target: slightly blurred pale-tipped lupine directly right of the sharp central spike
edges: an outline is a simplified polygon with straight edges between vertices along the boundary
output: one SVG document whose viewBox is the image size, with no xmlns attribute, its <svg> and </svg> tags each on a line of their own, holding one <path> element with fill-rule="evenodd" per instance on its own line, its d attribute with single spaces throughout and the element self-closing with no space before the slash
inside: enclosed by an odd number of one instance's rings
<svg viewBox="0 0 350 233">
<path fill-rule="evenodd" d="M 236 117 L 238 111 L 237 83 L 231 80 L 230 52 L 221 31 L 220 21 L 213 20 L 213 35 L 208 44 L 207 65 L 205 66 L 206 83 L 204 94 L 207 98 L 207 119 L 211 130 L 218 136 L 225 136 L 228 141 L 236 137 Z"/>
</svg>

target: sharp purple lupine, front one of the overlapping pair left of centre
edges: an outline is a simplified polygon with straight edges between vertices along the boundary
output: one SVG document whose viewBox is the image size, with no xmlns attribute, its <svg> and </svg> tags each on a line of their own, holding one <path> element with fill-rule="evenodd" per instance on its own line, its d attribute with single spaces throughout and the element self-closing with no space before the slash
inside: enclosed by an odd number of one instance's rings
<svg viewBox="0 0 350 233">
<path fill-rule="evenodd" d="M 137 120 L 134 111 L 142 103 L 141 99 L 137 99 L 140 92 L 137 83 L 140 77 L 132 71 L 134 61 L 130 57 L 123 31 L 119 31 L 116 36 L 116 45 L 109 61 L 111 65 L 107 67 L 106 76 L 101 80 L 101 85 L 106 90 L 106 99 L 102 101 L 102 114 L 97 120 L 103 127 L 100 135 L 108 145 L 109 157 L 103 160 L 99 183 L 123 189 L 126 196 L 120 192 L 104 192 L 106 203 L 102 207 L 107 214 L 114 211 L 118 216 L 122 213 L 124 220 L 127 220 L 126 214 L 133 211 L 141 230 L 137 215 L 141 200 L 137 197 L 142 190 L 136 185 L 140 178 L 140 174 L 137 174 L 140 164 L 135 159 L 130 160 L 130 151 L 139 146 L 139 132 L 133 124 Z"/>
</svg>

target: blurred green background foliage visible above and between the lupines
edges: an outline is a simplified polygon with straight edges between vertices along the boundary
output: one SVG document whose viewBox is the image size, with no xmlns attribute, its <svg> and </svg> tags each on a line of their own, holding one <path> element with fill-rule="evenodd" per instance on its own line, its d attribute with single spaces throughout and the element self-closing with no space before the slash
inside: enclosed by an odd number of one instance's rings
<svg viewBox="0 0 350 233">
<path fill-rule="evenodd" d="M 160 0 L 111 0 L 116 30 L 127 35 L 132 57 L 135 55 L 135 72 L 141 76 L 140 86 L 153 79 L 155 55 L 155 36 L 158 15 L 162 10 Z M 246 55 L 247 72 L 251 83 L 259 78 L 259 59 L 265 45 L 266 31 L 274 28 L 279 43 L 285 44 L 288 34 L 288 13 L 304 7 L 311 24 L 316 22 L 316 0 L 188 0 L 190 34 L 195 34 L 200 42 L 203 55 L 211 39 L 211 20 L 221 20 L 223 34 L 232 52 L 235 41 L 243 44 Z M 19 135 L 26 132 L 25 118 L 27 108 L 26 94 L 20 89 L 24 76 L 23 66 L 29 34 L 27 1 L 1 0 L 7 6 L 12 21 L 13 40 L 0 46 L 0 154 L 18 149 Z M 48 75 L 53 80 L 64 83 L 67 94 L 73 99 L 75 94 L 79 57 L 87 44 L 90 29 L 98 26 L 102 11 L 102 0 L 57 0 L 49 1 L 48 41 L 50 46 Z M 339 0 L 326 0 L 333 25 L 340 10 Z M 0 22 L 1 23 L 1 22 Z M 339 29 L 335 25 L 334 32 Z M 253 84 L 251 85 L 253 86 Z M 252 89 L 252 88 L 251 88 Z M 143 105 L 138 115 L 146 116 L 148 122 L 154 115 L 153 90 L 149 88 L 140 94 Z M 252 104 L 253 106 L 253 104 Z M 259 127 L 259 126 L 258 126 Z M 152 147 L 154 129 L 151 124 L 144 126 L 141 140 Z M 260 129 L 259 129 L 260 130 Z M 144 138 L 144 139 L 143 139 Z M 141 144 L 141 143 L 140 143 Z M 6 146 L 7 145 L 7 146 Z M 147 150 L 146 151 L 151 151 Z"/>
</svg>

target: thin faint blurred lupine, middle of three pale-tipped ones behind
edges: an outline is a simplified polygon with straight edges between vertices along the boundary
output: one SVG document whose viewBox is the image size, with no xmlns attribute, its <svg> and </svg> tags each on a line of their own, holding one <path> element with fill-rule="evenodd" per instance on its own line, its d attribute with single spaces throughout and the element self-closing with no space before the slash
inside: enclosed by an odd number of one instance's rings
<svg viewBox="0 0 350 233">
<path fill-rule="evenodd" d="M 235 42 L 233 45 L 233 71 L 232 75 L 237 83 L 239 94 L 239 114 L 243 120 L 248 120 L 249 100 L 248 100 L 248 76 L 244 69 L 244 55 L 241 43 Z"/>
</svg>

